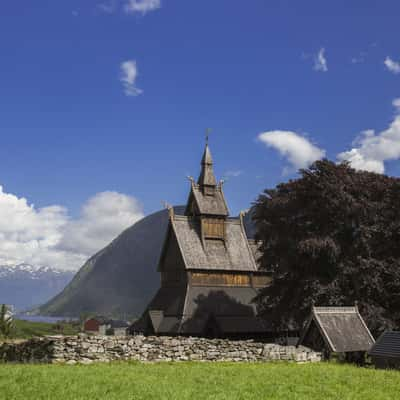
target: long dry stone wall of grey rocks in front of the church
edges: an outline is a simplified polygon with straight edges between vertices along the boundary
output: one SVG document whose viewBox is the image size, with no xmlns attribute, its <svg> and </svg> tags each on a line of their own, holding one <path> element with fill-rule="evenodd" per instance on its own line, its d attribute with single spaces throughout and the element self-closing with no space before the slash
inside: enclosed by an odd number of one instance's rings
<svg viewBox="0 0 400 400">
<path fill-rule="evenodd" d="M 0 345 L 0 361 L 90 364 L 116 360 L 157 361 L 321 361 L 304 346 L 252 340 L 164 336 L 48 336 Z"/>
</svg>

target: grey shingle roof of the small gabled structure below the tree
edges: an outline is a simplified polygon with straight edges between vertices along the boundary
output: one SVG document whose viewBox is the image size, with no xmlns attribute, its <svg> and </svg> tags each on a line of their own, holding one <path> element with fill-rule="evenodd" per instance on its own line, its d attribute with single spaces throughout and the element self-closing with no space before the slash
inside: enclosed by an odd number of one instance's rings
<svg viewBox="0 0 400 400">
<path fill-rule="evenodd" d="M 299 344 L 307 340 L 312 324 L 332 352 L 368 351 L 375 343 L 358 307 L 313 307 Z"/>
</svg>

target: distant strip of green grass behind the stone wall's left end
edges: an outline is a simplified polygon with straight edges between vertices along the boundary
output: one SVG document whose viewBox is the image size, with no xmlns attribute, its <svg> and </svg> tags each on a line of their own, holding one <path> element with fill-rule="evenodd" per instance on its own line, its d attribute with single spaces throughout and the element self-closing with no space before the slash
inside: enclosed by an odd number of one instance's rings
<svg viewBox="0 0 400 400">
<path fill-rule="evenodd" d="M 75 335 L 79 329 L 77 325 L 70 323 L 47 323 L 15 320 L 15 329 L 12 337 L 15 339 L 29 339 L 33 336 L 46 335 Z M 1 341 L 1 339 L 0 339 Z M 1 397 L 0 397 L 1 399 Z"/>
</svg>

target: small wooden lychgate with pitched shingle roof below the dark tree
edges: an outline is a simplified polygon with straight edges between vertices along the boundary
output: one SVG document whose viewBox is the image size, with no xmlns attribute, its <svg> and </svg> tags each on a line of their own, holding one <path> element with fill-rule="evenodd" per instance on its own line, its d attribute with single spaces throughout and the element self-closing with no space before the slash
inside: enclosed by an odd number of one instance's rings
<svg viewBox="0 0 400 400">
<path fill-rule="evenodd" d="M 326 357 L 342 353 L 362 356 L 375 343 L 374 337 L 354 307 L 312 307 L 299 345 L 323 352 Z"/>
</svg>

